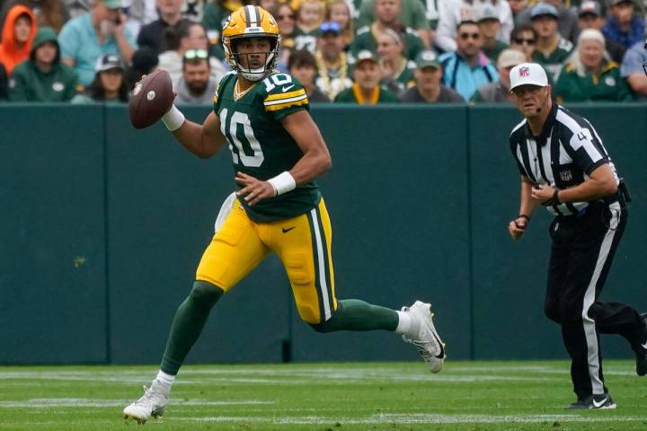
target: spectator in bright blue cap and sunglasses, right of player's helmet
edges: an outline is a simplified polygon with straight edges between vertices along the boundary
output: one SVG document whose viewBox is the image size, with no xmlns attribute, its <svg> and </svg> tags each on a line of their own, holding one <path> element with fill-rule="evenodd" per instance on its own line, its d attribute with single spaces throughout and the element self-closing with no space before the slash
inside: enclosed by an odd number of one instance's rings
<svg viewBox="0 0 647 431">
<path fill-rule="evenodd" d="M 343 46 L 340 25 L 337 22 L 323 22 L 319 28 L 315 52 L 319 74 L 315 84 L 330 100 L 352 86 L 348 57 L 343 51 Z"/>
</svg>

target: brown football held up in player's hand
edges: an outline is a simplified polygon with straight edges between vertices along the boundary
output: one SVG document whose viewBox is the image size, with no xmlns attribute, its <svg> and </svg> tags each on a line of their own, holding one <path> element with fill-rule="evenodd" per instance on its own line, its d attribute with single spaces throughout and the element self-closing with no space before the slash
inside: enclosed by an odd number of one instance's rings
<svg viewBox="0 0 647 431">
<path fill-rule="evenodd" d="M 163 69 L 144 76 L 133 89 L 129 101 L 130 122 L 147 128 L 161 119 L 173 106 L 171 75 Z"/>
</svg>

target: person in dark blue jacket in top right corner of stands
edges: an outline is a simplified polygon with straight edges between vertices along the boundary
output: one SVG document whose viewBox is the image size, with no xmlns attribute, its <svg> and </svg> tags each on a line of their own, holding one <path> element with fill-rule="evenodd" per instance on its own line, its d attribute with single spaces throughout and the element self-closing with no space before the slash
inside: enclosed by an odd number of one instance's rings
<svg viewBox="0 0 647 431">
<path fill-rule="evenodd" d="M 644 19 L 634 16 L 632 0 L 610 0 L 609 16 L 602 32 L 607 39 L 630 48 L 644 38 Z"/>
</svg>

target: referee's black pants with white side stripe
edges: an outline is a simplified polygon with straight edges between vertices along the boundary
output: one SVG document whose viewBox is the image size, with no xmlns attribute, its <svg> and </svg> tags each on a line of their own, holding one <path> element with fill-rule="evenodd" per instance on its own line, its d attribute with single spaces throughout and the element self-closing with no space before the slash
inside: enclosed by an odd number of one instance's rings
<svg viewBox="0 0 647 431">
<path fill-rule="evenodd" d="M 544 309 L 562 326 L 578 400 L 607 392 L 598 334 L 619 334 L 632 347 L 645 336 L 643 319 L 632 307 L 598 301 L 626 220 L 619 202 L 593 203 L 585 214 L 555 217 L 550 226 L 553 244 Z"/>
</svg>

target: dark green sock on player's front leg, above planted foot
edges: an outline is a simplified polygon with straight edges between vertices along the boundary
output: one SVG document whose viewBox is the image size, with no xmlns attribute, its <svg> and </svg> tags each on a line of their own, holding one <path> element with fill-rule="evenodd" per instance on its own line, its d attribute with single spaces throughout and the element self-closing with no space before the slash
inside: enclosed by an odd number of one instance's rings
<svg viewBox="0 0 647 431">
<path fill-rule="evenodd" d="M 178 373 L 184 358 L 198 340 L 209 312 L 223 294 L 220 287 L 210 283 L 196 281 L 193 284 L 191 293 L 180 304 L 173 317 L 171 333 L 160 366 L 164 373 L 171 375 Z"/>
</svg>

